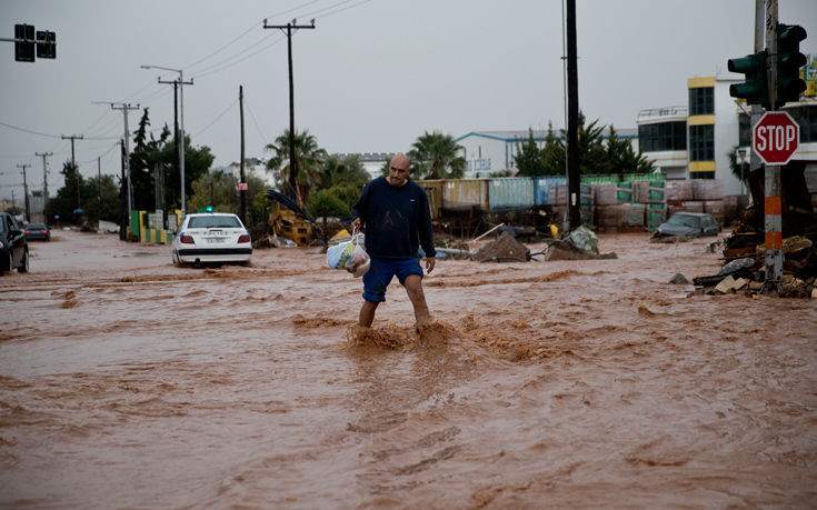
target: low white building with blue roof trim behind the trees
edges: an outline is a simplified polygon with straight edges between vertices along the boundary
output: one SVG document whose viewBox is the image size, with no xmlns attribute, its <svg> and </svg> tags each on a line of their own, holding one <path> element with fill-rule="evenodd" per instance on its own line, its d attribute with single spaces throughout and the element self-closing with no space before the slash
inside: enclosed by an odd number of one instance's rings
<svg viewBox="0 0 817 510">
<path fill-rule="evenodd" d="M 542 147 L 547 138 L 547 131 L 532 131 L 534 141 Z M 618 138 L 629 140 L 637 150 L 636 130 L 622 129 L 617 130 Z M 557 133 L 557 137 L 560 137 Z M 605 134 L 606 136 L 606 134 Z M 465 178 L 478 179 L 488 178 L 501 172 L 515 176 L 516 168 L 516 150 L 517 143 L 528 140 L 530 132 L 524 131 L 471 131 L 455 140 L 462 148 L 462 158 L 465 158 L 468 167 L 466 168 Z"/>
</svg>

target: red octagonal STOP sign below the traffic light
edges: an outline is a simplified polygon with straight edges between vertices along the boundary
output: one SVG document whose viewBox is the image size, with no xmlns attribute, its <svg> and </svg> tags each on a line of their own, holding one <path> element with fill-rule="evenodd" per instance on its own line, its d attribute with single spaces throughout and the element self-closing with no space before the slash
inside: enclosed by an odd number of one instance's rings
<svg viewBox="0 0 817 510">
<path fill-rule="evenodd" d="M 786 164 L 797 152 L 800 127 L 785 111 L 767 111 L 751 130 L 751 149 L 766 164 Z"/>
</svg>

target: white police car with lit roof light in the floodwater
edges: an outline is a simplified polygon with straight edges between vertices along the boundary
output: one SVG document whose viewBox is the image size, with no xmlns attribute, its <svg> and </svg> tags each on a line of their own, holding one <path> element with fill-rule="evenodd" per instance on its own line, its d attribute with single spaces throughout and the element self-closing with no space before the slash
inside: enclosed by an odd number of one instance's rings
<svg viewBox="0 0 817 510">
<path fill-rule="evenodd" d="M 252 256 L 250 233 L 229 212 L 187 214 L 172 242 L 175 266 L 205 262 L 247 263 Z"/>
</svg>

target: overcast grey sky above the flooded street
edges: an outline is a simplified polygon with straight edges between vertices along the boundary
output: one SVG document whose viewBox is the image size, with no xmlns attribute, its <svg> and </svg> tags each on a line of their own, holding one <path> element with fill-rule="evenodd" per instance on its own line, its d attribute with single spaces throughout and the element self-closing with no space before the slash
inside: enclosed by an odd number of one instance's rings
<svg viewBox="0 0 817 510">
<path fill-rule="evenodd" d="M 579 102 L 589 119 L 636 127 L 645 108 L 687 103 L 687 79 L 726 71 L 753 52 L 754 0 L 578 0 Z M 0 198 L 22 194 L 18 164 L 53 152 L 49 190 L 71 158 L 61 136 L 81 134 L 83 176 L 119 174 L 120 111 L 150 109 L 172 129 L 172 80 L 183 69 L 185 128 L 216 166 L 238 161 L 238 90 L 245 90 L 247 157 L 289 126 L 286 37 L 265 30 L 297 18 L 292 38 L 297 129 L 329 152 L 410 149 L 424 131 L 564 127 L 562 0 L 0 0 L 0 37 L 14 23 L 57 32 L 57 59 L 16 62 L 0 42 Z M 817 52 L 817 1 L 779 0 L 779 20 L 801 24 Z M 129 114 L 131 131 L 141 111 Z M 132 141 L 131 141 L 132 146 Z"/>
</svg>

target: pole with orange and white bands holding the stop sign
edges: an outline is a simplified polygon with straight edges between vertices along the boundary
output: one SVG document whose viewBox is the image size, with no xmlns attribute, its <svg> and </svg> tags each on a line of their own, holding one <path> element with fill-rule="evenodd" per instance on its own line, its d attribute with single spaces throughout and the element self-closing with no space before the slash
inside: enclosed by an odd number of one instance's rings
<svg viewBox="0 0 817 510">
<path fill-rule="evenodd" d="M 770 109 L 777 110 L 777 0 L 766 0 L 766 82 Z M 780 166 L 767 164 L 764 173 L 764 227 L 766 281 L 764 292 L 783 290 L 783 203 Z"/>
</svg>

